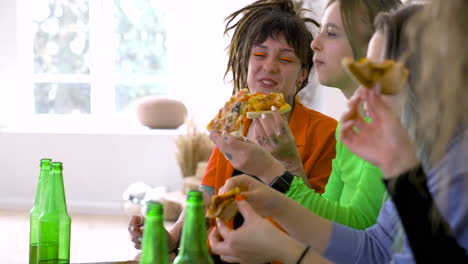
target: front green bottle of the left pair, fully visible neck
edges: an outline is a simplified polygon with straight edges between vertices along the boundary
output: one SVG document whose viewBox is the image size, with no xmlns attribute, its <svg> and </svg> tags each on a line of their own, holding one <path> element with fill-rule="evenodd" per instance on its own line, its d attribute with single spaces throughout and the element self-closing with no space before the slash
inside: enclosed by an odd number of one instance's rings
<svg viewBox="0 0 468 264">
<path fill-rule="evenodd" d="M 52 162 L 44 212 L 39 217 L 39 263 L 70 263 L 71 218 L 63 188 L 62 163 Z"/>
</svg>

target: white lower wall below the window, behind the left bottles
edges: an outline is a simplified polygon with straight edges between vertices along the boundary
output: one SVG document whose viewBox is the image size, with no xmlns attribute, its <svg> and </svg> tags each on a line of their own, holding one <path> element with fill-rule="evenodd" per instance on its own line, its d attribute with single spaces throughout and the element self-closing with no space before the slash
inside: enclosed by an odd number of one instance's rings
<svg viewBox="0 0 468 264">
<path fill-rule="evenodd" d="M 0 131 L 0 208 L 32 207 L 39 159 L 48 157 L 63 162 L 70 212 L 122 213 L 122 192 L 136 181 L 180 190 L 182 177 L 174 158 L 177 134 Z"/>
</svg>

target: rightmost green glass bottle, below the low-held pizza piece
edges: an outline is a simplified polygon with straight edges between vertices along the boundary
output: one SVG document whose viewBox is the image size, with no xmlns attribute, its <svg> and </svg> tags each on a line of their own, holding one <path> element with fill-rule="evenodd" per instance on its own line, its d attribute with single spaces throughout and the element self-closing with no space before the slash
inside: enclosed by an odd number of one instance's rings
<svg viewBox="0 0 468 264">
<path fill-rule="evenodd" d="M 179 254 L 174 264 L 213 264 L 208 253 L 203 194 L 190 191 Z"/>
</svg>

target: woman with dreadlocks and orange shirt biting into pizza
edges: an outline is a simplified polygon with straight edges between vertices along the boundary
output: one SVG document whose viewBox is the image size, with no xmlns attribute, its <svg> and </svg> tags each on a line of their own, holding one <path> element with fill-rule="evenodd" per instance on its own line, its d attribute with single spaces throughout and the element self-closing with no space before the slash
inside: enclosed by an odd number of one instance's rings
<svg viewBox="0 0 468 264">
<path fill-rule="evenodd" d="M 251 148 L 250 153 L 245 149 L 224 153 L 215 147 L 202 179 L 202 189 L 209 194 L 219 193 L 226 180 L 242 173 L 270 184 L 274 177 L 263 175 L 260 166 L 254 165 L 249 171 L 239 169 L 245 168 L 249 157 L 270 154 L 309 188 L 323 193 L 335 157 L 337 123 L 306 108 L 296 97 L 306 86 L 313 65 L 313 38 L 306 23 L 318 25 L 301 17 L 302 11 L 290 0 L 261 0 L 227 18 L 225 32 L 234 30 L 226 69 L 226 74 L 233 76 L 233 93 L 243 87 L 251 92 L 282 93 L 292 111 L 283 116 L 275 112 L 245 124 L 248 132 L 244 142 L 261 146 Z M 242 222 L 238 214 L 229 224 L 237 228 Z"/>
</svg>

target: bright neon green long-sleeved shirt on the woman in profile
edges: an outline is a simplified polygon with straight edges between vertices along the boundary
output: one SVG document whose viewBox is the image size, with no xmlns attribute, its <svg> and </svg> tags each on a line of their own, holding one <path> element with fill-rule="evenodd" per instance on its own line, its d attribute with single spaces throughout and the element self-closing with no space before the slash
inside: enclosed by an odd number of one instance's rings
<svg viewBox="0 0 468 264">
<path fill-rule="evenodd" d="M 307 187 L 301 178 L 295 177 L 286 195 L 326 219 L 365 229 L 376 223 L 383 204 L 385 186 L 382 172 L 341 143 L 340 129 L 338 124 L 336 157 L 325 192 L 320 195 Z"/>
</svg>

